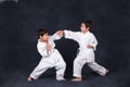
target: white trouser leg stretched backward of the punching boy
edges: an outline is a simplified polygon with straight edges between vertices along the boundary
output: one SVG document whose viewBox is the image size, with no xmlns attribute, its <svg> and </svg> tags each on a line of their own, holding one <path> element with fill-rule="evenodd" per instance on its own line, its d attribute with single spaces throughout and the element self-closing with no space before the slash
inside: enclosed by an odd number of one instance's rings
<svg viewBox="0 0 130 87">
<path fill-rule="evenodd" d="M 95 62 L 89 62 L 87 63 L 93 71 L 95 71 L 96 73 L 99 73 L 102 76 L 105 76 L 108 73 L 108 70 L 106 70 L 105 67 L 101 66 L 100 64 L 95 63 Z"/>
</svg>

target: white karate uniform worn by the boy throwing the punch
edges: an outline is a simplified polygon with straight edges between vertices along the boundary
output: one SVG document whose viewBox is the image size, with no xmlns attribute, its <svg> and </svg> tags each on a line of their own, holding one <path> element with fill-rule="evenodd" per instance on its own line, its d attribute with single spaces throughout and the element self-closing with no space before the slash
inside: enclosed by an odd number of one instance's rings
<svg viewBox="0 0 130 87">
<path fill-rule="evenodd" d="M 106 73 L 106 69 L 94 62 L 94 50 L 96 49 L 96 38 L 90 32 L 83 34 L 81 32 L 64 30 L 65 38 L 74 39 L 79 44 L 79 53 L 74 61 L 74 76 L 81 77 L 81 69 L 87 63 L 93 71 L 100 75 Z M 87 48 L 88 45 L 93 48 Z"/>
</svg>

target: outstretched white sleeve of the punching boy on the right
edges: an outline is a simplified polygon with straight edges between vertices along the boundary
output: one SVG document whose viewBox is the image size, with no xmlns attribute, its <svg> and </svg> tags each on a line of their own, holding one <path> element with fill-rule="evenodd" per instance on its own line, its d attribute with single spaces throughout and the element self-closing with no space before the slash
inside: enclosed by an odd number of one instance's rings
<svg viewBox="0 0 130 87">
<path fill-rule="evenodd" d="M 76 41 L 79 41 L 79 32 L 70 32 L 70 30 L 64 30 L 64 36 L 67 39 L 74 39 Z"/>
</svg>

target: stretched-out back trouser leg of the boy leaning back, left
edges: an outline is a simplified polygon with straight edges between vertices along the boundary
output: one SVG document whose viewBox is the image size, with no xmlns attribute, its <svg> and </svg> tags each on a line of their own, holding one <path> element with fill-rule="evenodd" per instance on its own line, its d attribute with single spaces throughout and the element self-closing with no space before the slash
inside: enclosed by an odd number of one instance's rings
<svg viewBox="0 0 130 87">
<path fill-rule="evenodd" d="M 30 74 L 30 77 L 32 79 L 37 79 L 42 73 L 44 73 L 49 67 L 51 66 L 51 63 L 46 62 L 43 60 L 40 61 L 40 63 L 36 66 L 36 69 Z"/>
</svg>

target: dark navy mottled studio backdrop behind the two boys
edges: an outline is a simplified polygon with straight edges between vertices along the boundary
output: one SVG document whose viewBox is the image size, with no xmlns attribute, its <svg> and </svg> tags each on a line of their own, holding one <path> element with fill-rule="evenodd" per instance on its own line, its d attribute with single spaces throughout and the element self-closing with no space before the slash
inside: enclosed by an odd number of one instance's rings
<svg viewBox="0 0 130 87">
<path fill-rule="evenodd" d="M 107 67 L 110 73 L 103 78 L 84 65 L 83 83 L 57 83 L 54 79 L 55 73 L 52 72 L 55 70 L 51 69 L 40 79 L 28 84 L 26 77 L 41 58 L 36 48 L 38 39 L 36 30 L 43 26 L 51 35 L 58 29 L 76 32 L 84 18 L 94 23 L 91 32 L 99 40 L 96 62 Z M 64 38 L 55 42 L 67 63 L 65 77 L 69 79 L 78 44 Z M 129 0 L 0 2 L 0 87 L 129 87 Z M 46 77 L 52 77 L 52 80 Z"/>
</svg>

